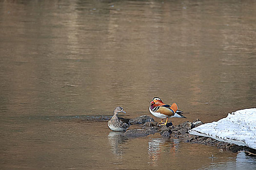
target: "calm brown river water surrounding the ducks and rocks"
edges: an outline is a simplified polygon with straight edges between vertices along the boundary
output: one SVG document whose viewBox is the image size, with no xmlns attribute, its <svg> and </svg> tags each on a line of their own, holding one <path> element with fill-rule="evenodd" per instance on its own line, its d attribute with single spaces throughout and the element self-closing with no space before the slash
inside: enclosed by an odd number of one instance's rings
<svg viewBox="0 0 256 170">
<path fill-rule="evenodd" d="M 150 115 L 153 97 L 185 112 L 174 124 L 255 107 L 255 18 L 254 0 L 0 0 L 0 169 L 255 170 L 106 124 L 116 106 Z"/>
</svg>

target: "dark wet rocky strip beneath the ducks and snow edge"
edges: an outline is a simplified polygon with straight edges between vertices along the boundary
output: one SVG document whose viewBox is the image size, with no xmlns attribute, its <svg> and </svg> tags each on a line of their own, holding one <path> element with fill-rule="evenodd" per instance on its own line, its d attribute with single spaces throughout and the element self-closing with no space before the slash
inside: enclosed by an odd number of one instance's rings
<svg viewBox="0 0 256 170">
<path fill-rule="evenodd" d="M 184 142 L 216 146 L 218 149 L 229 150 L 234 153 L 238 151 L 246 151 L 248 153 L 251 153 L 252 155 L 256 155 L 255 149 L 246 146 L 238 146 L 236 144 L 221 142 L 210 137 L 190 135 L 188 133 L 190 129 L 193 129 L 203 124 L 203 122 L 199 119 L 196 119 L 192 122 L 185 121 L 178 125 L 173 125 L 170 122 L 167 124 L 167 126 L 158 126 L 158 122 L 155 122 L 153 118 L 144 115 L 131 120 L 131 123 L 140 124 L 141 129 L 127 130 L 124 133 L 126 137 L 140 137 L 159 133 L 162 137 L 175 137 L 181 139 Z"/>
</svg>

